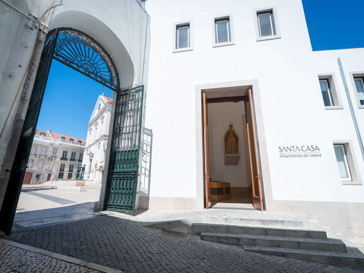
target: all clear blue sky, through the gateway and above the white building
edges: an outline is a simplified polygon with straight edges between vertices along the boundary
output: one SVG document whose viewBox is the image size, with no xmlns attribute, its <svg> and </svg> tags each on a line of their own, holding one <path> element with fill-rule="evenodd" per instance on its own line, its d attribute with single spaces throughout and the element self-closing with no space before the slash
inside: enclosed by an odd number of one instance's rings
<svg viewBox="0 0 364 273">
<path fill-rule="evenodd" d="M 363 0 L 302 3 L 313 50 L 364 47 Z M 51 128 L 59 134 L 86 139 L 93 110 L 88 107 L 95 107 L 102 88 L 102 84 L 53 60 L 37 129 Z M 112 90 L 104 89 L 105 96 L 112 97 Z"/>
</svg>

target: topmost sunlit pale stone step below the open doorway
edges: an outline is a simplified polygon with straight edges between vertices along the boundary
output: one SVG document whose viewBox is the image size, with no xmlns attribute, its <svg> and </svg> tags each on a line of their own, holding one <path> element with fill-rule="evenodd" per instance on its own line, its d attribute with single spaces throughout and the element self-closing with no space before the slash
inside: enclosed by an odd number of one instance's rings
<svg viewBox="0 0 364 273">
<path fill-rule="evenodd" d="M 267 225 L 267 226 L 293 226 L 293 227 L 310 227 L 308 219 L 292 220 L 292 219 L 274 219 L 274 218 L 258 218 L 258 217 L 201 217 L 204 223 L 228 223 L 239 225 Z"/>
</svg>

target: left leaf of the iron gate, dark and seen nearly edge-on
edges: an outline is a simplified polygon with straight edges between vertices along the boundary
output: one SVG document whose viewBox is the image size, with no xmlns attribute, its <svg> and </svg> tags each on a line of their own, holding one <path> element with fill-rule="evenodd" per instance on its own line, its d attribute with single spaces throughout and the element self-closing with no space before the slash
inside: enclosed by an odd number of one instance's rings
<svg viewBox="0 0 364 273">
<path fill-rule="evenodd" d="M 43 100 L 44 90 L 46 89 L 57 37 L 58 29 L 47 39 L 47 44 L 40 57 L 27 114 L 25 115 L 23 129 L 20 134 L 19 144 L 4 196 L 3 206 L 0 211 L 0 228 L 6 235 L 10 234 L 11 227 L 13 225 L 16 206 L 19 200 L 25 170 L 27 169 L 29 153 L 33 143 L 33 137 Z"/>
</svg>

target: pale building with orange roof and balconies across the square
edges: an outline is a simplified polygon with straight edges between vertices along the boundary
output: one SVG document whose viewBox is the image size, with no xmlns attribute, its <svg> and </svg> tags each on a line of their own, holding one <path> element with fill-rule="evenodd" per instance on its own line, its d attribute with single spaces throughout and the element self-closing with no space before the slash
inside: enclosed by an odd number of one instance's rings
<svg viewBox="0 0 364 273">
<path fill-rule="evenodd" d="M 23 184 L 40 184 L 50 180 L 71 180 L 79 173 L 86 141 L 37 130 Z"/>
</svg>

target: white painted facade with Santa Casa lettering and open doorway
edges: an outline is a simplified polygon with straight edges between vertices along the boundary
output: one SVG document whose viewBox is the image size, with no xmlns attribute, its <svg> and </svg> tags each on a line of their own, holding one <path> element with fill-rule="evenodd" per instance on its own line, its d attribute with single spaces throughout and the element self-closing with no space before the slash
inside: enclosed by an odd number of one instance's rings
<svg viewBox="0 0 364 273">
<path fill-rule="evenodd" d="M 364 135 L 352 79 L 363 74 L 364 49 L 313 52 L 300 0 L 149 0 L 146 7 L 153 39 L 145 126 L 154 139 L 149 195 L 140 203 L 203 208 L 201 91 L 209 97 L 211 88 L 235 95 L 251 89 L 265 210 L 306 213 L 345 234 L 363 233 L 364 161 L 337 58 Z M 277 28 L 269 39 L 257 32 L 257 12 L 265 10 L 273 10 Z M 233 38 L 216 47 L 211 21 L 222 16 L 230 16 Z M 190 22 L 193 45 L 175 52 L 178 22 Z M 324 106 L 323 76 L 333 79 L 337 106 Z M 349 146 L 354 181 L 341 179 L 334 143 Z M 280 146 L 307 145 L 321 157 L 280 158 Z"/>
</svg>

